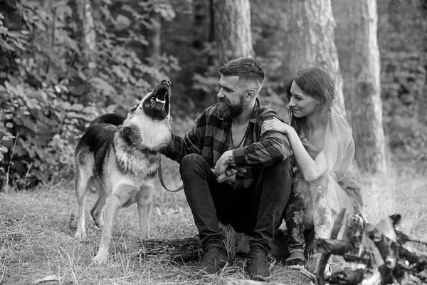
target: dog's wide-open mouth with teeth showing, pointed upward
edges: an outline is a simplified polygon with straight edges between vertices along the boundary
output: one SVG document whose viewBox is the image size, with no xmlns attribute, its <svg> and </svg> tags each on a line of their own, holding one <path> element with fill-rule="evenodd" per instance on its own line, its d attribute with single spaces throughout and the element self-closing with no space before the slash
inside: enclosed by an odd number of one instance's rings
<svg viewBox="0 0 427 285">
<path fill-rule="evenodd" d="M 169 115 L 169 99 L 171 95 L 170 81 L 161 81 L 153 92 L 145 98 L 143 103 L 144 112 L 154 120 L 166 118 Z"/>
</svg>

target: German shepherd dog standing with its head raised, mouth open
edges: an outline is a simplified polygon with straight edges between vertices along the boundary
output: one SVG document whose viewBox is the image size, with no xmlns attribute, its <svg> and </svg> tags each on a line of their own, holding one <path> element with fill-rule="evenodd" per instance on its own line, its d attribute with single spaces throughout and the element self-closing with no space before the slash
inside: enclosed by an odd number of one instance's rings
<svg viewBox="0 0 427 285">
<path fill-rule="evenodd" d="M 78 221 L 75 238 L 85 239 L 85 199 L 90 185 L 98 186 L 97 201 L 90 211 L 102 229 L 94 260 L 105 264 L 112 229 L 120 207 L 137 203 L 140 234 L 149 239 L 154 177 L 160 150 L 172 140 L 170 126 L 170 81 L 161 81 L 130 109 L 121 121 L 102 115 L 83 133 L 75 148 L 75 192 Z M 105 221 L 102 219 L 102 210 Z"/>
</svg>

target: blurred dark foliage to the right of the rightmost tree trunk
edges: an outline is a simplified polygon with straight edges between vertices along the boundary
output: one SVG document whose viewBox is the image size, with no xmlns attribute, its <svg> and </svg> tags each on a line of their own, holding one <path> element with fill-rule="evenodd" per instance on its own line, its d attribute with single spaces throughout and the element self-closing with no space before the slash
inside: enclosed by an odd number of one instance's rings
<svg viewBox="0 0 427 285">
<path fill-rule="evenodd" d="M 388 147 L 392 159 L 410 162 L 419 172 L 425 172 L 427 162 L 427 10 L 422 4 L 419 0 L 378 1 L 381 99 Z"/>
</svg>

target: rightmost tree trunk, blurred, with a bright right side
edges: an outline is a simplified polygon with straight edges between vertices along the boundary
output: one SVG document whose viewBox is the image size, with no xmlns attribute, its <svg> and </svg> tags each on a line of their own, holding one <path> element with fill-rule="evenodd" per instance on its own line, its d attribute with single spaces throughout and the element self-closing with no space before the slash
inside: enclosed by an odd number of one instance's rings
<svg viewBox="0 0 427 285">
<path fill-rule="evenodd" d="M 386 171 L 376 0 L 333 0 L 347 118 L 362 172 Z"/>
</svg>

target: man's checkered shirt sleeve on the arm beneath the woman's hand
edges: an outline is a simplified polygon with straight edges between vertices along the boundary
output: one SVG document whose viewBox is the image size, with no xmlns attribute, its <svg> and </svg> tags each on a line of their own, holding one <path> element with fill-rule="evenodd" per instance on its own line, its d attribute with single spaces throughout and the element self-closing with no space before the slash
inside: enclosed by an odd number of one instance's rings
<svg viewBox="0 0 427 285">
<path fill-rule="evenodd" d="M 233 158 L 237 166 L 268 167 L 292 155 L 289 140 L 283 133 L 270 131 L 260 135 L 264 121 L 273 117 L 279 118 L 278 113 L 272 109 L 260 113 L 255 124 L 255 135 L 260 139 L 252 145 L 233 150 Z"/>
</svg>

